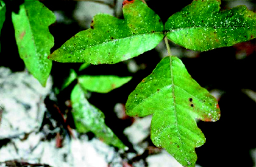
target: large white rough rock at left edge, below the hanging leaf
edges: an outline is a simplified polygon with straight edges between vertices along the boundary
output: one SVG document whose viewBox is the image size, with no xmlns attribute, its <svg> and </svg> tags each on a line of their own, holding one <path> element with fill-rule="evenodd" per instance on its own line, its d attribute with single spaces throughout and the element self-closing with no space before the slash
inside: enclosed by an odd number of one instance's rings
<svg viewBox="0 0 256 167">
<path fill-rule="evenodd" d="M 0 139 L 40 128 L 46 111 L 43 101 L 51 90 L 52 78 L 49 77 L 46 87 L 42 87 L 28 72 L 11 73 L 0 67 L 0 86 Z"/>
</svg>

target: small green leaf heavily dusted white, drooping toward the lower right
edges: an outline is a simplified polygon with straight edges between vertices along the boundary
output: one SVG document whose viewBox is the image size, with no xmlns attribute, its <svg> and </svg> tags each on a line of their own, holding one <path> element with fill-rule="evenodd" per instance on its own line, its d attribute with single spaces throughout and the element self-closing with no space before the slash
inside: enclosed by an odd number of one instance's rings
<svg viewBox="0 0 256 167">
<path fill-rule="evenodd" d="M 91 131 L 108 145 L 127 149 L 122 141 L 105 124 L 104 114 L 87 101 L 84 90 L 79 84 L 71 92 L 71 103 L 74 109 L 73 117 L 78 132 Z"/>
</svg>

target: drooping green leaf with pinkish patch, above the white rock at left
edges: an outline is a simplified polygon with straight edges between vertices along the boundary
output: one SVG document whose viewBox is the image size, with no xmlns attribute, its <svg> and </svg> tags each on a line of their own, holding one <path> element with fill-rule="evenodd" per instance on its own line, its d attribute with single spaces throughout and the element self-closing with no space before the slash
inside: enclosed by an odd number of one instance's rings
<svg viewBox="0 0 256 167">
<path fill-rule="evenodd" d="M 54 38 L 48 26 L 55 22 L 54 13 L 38 1 L 25 1 L 18 14 L 12 13 L 15 38 L 27 69 L 41 83 L 51 72 L 52 61 L 48 60 Z"/>
</svg>

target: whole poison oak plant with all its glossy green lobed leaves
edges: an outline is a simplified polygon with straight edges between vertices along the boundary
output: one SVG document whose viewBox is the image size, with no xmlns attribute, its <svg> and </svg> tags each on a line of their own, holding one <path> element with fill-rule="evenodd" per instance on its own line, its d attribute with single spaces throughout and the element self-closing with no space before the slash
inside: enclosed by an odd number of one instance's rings
<svg viewBox="0 0 256 167">
<path fill-rule="evenodd" d="M 0 2 L 1 28 L 5 4 Z M 48 26 L 55 21 L 55 16 L 50 10 L 38 1 L 25 1 L 19 13 L 13 13 L 12 21 L 20 56 L 43 86 L 51 71 L 51 60 L 114 64 L 154 49 L 164 39 L 166 57 L 129 95 L 126 113 L 139 117 L 152 114 L 154 145 L 165 148 L 183 166 L 195 166 L 194 148 L 205 143 L 196 120 L 217 121 L 220 109 L 216 99 L 191 78 L 182 61 L 171 55 L 168 39 L 187 49 L 207 51 L 255 38 L 254 12 L 243 5 L 220 12 L 220 4 L 220 0 L 194 0 L 163 24 L 144 1 L 125 0 L 124 19 L 98 14 L 91 21 L 90 29 L 77 33 L 51 55 L 49 49 L 54 40 Z M 87 90 L 107 93 L 127 83 L 130 77 L 77 77 L 72 71 L 63 88 L 76 79 L 71 102 L 77 130 L 92 131 L 105 142 L 125 148 L 105 126 L 104 115 L 88 103 L 85 94 Z M 112 137 L 115 139 L 111 140 Z"/>
</svg>

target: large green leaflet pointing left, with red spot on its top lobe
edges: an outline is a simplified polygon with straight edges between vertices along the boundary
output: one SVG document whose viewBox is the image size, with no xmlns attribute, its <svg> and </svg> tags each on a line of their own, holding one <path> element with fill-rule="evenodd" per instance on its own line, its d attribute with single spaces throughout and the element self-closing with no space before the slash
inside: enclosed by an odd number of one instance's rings
<svg viewBox="0 0 256 167">
<path fill-rule="evenodd" d="M 49 58 L 59 62 L 113 64 L 154 49 L 163 39 L 159 16 L 140 0 L 123 5 L 124 19 L 94 16 L 91 29 L 77 33 Z"/>
</svg>

